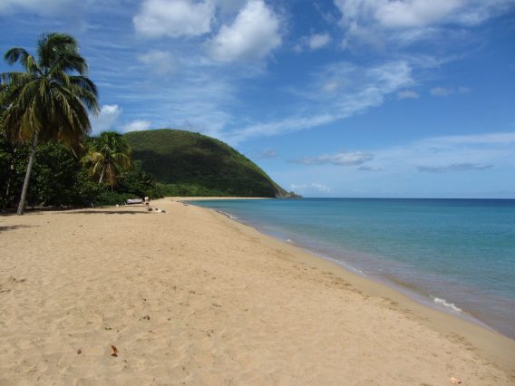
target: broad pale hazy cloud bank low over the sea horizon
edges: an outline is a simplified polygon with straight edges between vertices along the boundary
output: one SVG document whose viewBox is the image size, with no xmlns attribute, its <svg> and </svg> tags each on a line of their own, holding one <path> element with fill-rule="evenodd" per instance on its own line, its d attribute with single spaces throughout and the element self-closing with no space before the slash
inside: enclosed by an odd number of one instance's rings
<svg viewBox="0 0 515 386">
<path fill-rule="evenodd" d="M 299 190 L 303 196 L 316 196 L 307 182 L 316 181 L 330 186 L 335 197 L 514 197 L 514 130 L 430 137 L 363 151 L 374 159 L 357 167 L 298 167 L 277 177 L 304 185 Z"/>
</svg>

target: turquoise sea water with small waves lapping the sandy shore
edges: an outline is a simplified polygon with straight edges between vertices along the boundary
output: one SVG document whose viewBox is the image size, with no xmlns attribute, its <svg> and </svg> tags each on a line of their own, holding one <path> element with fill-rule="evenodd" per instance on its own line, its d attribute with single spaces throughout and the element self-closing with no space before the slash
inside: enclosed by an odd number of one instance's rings
<svg viewBox="0 0 515 386">
<path fill-rule="evenodd" d="M 515 200 L 192 202 L 515 338 Z"/>
</svg>

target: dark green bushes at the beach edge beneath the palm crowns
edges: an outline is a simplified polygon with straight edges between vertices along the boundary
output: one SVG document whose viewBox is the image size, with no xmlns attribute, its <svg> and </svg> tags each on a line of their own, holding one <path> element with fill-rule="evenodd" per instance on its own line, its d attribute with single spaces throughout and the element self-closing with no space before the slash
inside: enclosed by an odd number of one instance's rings
<svg viewBox="0 0 515 386">
<path fill-rule="evenodd" d="M 30 145 L 16 146 L 0 137 L 0 207 L 15 207 L 24 182 Z M 40 145 L 27 192 L 29 207 L 90 207 L 122 204 L 127 198 L 162 197 L 158 183 L 142 171 L 141 165 L 119 177 L 118 186 L 93 180 L 77 157 L 62 144 Z"/>
</svg>

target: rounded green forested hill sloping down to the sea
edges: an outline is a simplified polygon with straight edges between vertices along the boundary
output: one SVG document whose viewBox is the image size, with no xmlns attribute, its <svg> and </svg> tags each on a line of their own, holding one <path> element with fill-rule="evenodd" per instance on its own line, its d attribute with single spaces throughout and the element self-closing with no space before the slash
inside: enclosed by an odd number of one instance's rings
<svg viewBox="0 0 515 386">
<path fill-rule="evenodd" d="M 173 196 L 286 197 L 254 162 L 224 142 L 185 130 L 132 131 L 131 158 Z"/>
</svg>

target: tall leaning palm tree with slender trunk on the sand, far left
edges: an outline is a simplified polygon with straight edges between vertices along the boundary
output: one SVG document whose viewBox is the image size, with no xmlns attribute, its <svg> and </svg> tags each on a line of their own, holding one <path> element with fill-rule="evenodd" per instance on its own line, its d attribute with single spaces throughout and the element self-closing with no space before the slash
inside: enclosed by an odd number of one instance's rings
<svg viewBox="0 0 515 386">
<path fill-rule="evenodd" d="M 91 130 L 88 112 L 99 112 L 98 96 L 78 43 L 68 34 L 43 34 L 36 57 L 15 47 L 5 61 L 24 67 L 0 74 L 0 128 L 10 140 L 32 143 L 17 211 L 23 215 L 37 144 L 55 140 L 76 149 Z"/>
</svg>

